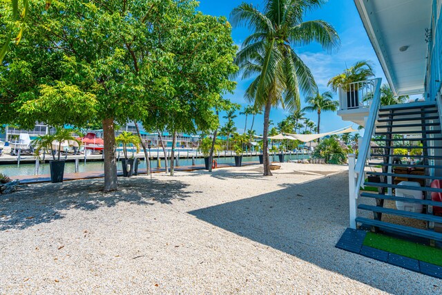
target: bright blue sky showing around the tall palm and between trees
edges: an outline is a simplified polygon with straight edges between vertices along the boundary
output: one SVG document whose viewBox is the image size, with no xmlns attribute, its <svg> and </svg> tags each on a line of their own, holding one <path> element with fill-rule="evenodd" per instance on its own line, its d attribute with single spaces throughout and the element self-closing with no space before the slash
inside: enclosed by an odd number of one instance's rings
<svg viewBox="0 0 442 295">
<path fill-rule="evenodd" d="M 227 0 L 227 1 L 213 1 L 213 0 L 200 0 L 200 8 L 202 12 L 207 15 L 225 16 L 229 17 L 233 8 L 240 5 L 243 1 L 240 0 Z M 253 3 L 253 5 L 262 8 L 262 0 L 250 1 L 247 3 Z M 370 59 L 374 61 L 376 69 L 376 77 L 383 78 L 383 82 L 386 82 L 385 76 L 381 65 L 378 62 L 376 54 L 370 44 L 367 37 L 367 33 L 363 27 L 363 23 L 358 15 L 356 6 L 351 0 L 329 0 L 321 8 L 307 13 L 305 20 L 311 19 L 323 19 L 328 21 L 337 30 L 341 41 L 340 50 L 337 53 L 328 54 L 318 46 L 318 44 L 309 44 L 309 46 L 302 46 L 295 48 L 298 55 L 302 57 L 302 60 L 309 66 L 311 72 L 314 74 L 316 83 L 318 84 L 319 91 L 329 90 L 327 88 L 327 81 L 329 78 L 341 73 L 346 66 L 351 66 L 356 61 L 361 59 Z M 245 37 L 250 34 L 247 28 L 233 28 L 232 37 L 233 41 L 240 46 Z M 233 95 L 227 95 L 226 97 L 231 99 L 232 102 L 247 105 L 244 100 L 244 91 L 249 86 L 249 81 L 237 80 L 238 86 Z M 338 95 L 335 95 L 335 99 L 338 99 Z M 301 99 L 302 107 L 305 106 L 304 97 Z M 224 115 L 224 114 L 222 114 Z M 222 116 L 221 115 L 221 116 Z M 238 114 L 237 114 L 238 115 Z M 270 119 L 273 120 L 276 125 L 283 120 L 289 113 L 281 108 L 273 108 L 270 114 Z M 307 113 L 310 120 L 317 122 L 318 115 L 316 113 Z M 236 118 L 236 126 L 238 132 L 244 131 L 244 116 Z M 255 126 L 253 129 L 256 133 L 262 133 L 263 116 L 256 117 Z M 221 124 L 224 124 L 225 120 L 220 118 Z M 250 128 L 250 120 L 247 122 L 247 129 Z M 323 113 L 321 115 L 320 131 L 334 131 L 345 126 L 352 125 L 352 122 L 344 122 L 336 115 L 336 113 Z"/>
</svg>

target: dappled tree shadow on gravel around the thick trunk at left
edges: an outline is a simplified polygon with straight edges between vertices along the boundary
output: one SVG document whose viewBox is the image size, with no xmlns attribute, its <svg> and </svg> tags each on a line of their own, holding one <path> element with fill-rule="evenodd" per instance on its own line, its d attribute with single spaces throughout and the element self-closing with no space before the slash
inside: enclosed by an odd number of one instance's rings
<svg viewBox="0 0 442 295">
<path fill-rule="evenodd" d="M 64 218 L 62 211 L 93 211 L 114 207 L 119 202 L 140 206 L 171 204 L 194 192 L 178 180 L 119 178 L 118 191 L 103 193 L 103 180 L 77 180 L 62 184 L 32 184 L 16 193 L 0 195 L 0 231 L 26 229 L 40 223 Z"/>
</svg>

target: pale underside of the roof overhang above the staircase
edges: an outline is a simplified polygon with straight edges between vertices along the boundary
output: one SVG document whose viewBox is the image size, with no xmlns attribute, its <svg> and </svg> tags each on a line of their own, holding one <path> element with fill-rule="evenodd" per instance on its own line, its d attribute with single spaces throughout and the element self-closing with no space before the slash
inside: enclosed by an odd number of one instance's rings
<svg viewBox="0 0 442 295">
<path fill-rule="evenodd" d="M 424 92 L 430 0 L 354 0 L 385 76 L 396 95 Z M 405 51 L 399 48 L 405 48 Z"/>
</svg>

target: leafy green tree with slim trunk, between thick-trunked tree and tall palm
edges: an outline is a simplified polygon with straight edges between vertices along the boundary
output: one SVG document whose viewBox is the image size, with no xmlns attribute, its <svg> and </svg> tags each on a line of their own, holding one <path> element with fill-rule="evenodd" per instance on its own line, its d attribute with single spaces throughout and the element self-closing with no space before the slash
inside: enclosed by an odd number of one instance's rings
<svg viewBox="0 0 442 295">
<path fill-rule="evenodd" d="M 167 130 L 173 134 L 171 174 L 177 133 L 209 133 L 218 129 L 217 111 L 231 104 L 222 95 L 232 92 L 236 83 L 229 79 L 238 67 L 233 63 L 237 47 L 231 38 L 231 26 L 225 17 L 195 13 L 196 1 L 182 15 L 181 26 L 156 36 L 157 46 L 169 55 L 154 59 L 157 72 L 167 77 L 172 90 L 164 99 L 157 95 L 151 108 L 142 114 L 147 130 Z"/>
</svg>

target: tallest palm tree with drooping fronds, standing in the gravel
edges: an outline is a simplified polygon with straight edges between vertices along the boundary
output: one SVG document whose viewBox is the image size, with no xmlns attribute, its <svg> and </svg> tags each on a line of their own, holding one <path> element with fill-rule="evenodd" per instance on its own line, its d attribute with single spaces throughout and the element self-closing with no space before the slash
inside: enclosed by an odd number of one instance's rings
<svg viewBox="0 0 442 295">
<path fill-rule="evenodd" d="M 281 104 L 288 110 L 300 108 L 300 91 L 316 91 L 311 71 L 296 54 L 294 46 L 317 41 L 334 50 L 340 40 L 329 23 L 302 21 L 305 12 L 320 7 L 323 0 L 266 0 L 261 12 L 242 3 L 231 12 L 233 26 L 245 25 L 252 34 L 244 40 L 236 56 L 242 79 L 256 77 L 246 91 L 246 98 L 264 109 L 264 175 L 271 175 L 268 152 L 269 115 L 272 106 Z"/>
</svg>

